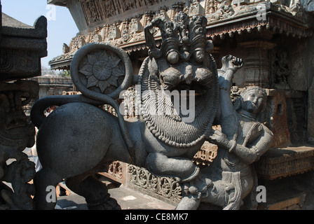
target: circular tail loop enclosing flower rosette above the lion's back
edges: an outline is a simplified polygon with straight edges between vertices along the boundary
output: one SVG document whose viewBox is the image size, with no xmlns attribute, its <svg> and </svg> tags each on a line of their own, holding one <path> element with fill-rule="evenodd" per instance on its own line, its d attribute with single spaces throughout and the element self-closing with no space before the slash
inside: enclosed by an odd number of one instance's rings
<svg viewBox="0 0 314 224">
<path fill-rule="evenodd" d="M 71 78 L 78 90 L 90 97 L 105 94 L 118 98 L 132 83 L 132 64 L 124 50 L 109 43 L 90 43 L 80 48 L 71 62 Z"/>
</svg>

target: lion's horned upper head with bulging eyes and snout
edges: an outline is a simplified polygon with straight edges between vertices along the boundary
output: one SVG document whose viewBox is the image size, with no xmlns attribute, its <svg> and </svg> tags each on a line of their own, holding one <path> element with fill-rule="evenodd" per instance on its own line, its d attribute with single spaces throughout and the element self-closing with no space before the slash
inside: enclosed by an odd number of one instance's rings
<svg viewBox="0 0 314 224">
<path fill-rule="evenodd" d="M 146 31 L 150 57 L 156 62 L 152 73 L 160 79 L 165 90 L 195 90 L 203 94 L 212 87 L 216 64 L 210 55 L 213 45 L 206 38 L 207 19 L 180 12 L 175 21 L 156 19 L 149 28 L 158 27 L 163 37 L 160 49 L 151 45 L 153 35 Z M 153 70 L 154 69 L 154 70 Z"/>
</svg>

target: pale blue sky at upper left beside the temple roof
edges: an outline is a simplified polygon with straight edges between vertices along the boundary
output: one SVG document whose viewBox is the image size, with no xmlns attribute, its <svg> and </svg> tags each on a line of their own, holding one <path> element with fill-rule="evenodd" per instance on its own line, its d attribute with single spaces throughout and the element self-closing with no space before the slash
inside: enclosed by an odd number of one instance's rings
<svg viewBox="0 0 314 224">
<path fill-rule="evenodd" d="M 23 22 L 34 25 L 41 15 L 48 18 L 48 56 L 41 59 L 41 66 L 48 67 L 53 57 L 62 55 L 62 45 L 69 45 L 78 29 L 66 7 L 48 6 L 46 0 L 1 0 L 2 12 Z"/>
</svg>

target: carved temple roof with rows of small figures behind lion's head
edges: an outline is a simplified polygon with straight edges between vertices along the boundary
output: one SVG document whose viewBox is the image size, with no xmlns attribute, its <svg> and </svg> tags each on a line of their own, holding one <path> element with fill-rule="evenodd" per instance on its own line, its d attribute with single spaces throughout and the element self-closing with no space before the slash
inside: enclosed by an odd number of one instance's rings
<svg viewBox="0 0 314 224">
<path fill-rule="evenodd" d="M 168 1 L 171 2 L 170 0 Z M 205 15 L 207 18 L 206 36 L 212 39 L 224 38 L 226 35 L 241 35 L 251 33 L 252 31 L 285 34 L 292 38 L 303 38 L 311 35 L 303 19 L 296 16 L 300 14 L 301 10 L 299 1 L 292 1 L 291 4 L 286 6 L 285 2 L 281 1 L 270 3 L 240 0 L 193 0 L 186 3 L 173 3 L 171 7 L 163 6 L 158 10 L 145 13 L 140 9 L 141 7 L 158 3 L 161 2 L 159 0 L 81 1 L 86 20 L 89 25 L 95 27 L 93 28 L 94 31 L 86 36 L 78 35 L 74 37 L 69 44 L 68 52 L 52 59 L 50 66 L 52 69 L 68 69 L 74 52 L 87 43 L 107 41 L 120 46 L 127 52 L 146 49 L 146 46 L 143 45 L 144 27 L 156 18 L 174 21 L 180 10 L 184 10 L 190 17 L 193 15 Z M 142 13 L 125 18 L 123 21 L 104 22 L 104 19 L 110 18 L 109 15 L 119 15 L 132 9 L 138 9 Z M 303 11 L 301 10 L 301 12 Z M 261 13 L 265 13 L 265 19 L 257 18 L 257 15 Z M 161 38 L 161 33 L 158 29 L 154 29 L 153 32 L 156 40 Z"/>
</svg>

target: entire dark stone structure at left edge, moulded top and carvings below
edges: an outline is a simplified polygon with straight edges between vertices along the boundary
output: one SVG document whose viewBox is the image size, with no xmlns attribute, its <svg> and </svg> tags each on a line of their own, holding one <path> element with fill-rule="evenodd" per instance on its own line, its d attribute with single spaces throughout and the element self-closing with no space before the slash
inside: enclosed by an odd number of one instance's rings
<svg viewBox="0 0 314 224">
<path fill-rule="evenodd" d="M 41 57 L 47 55 L 47 20 L 34 26 L 1 13 L 0 1 L 0 210 L 34 209 L 35 174 L 25 148 L 34 145 L 35 127 L 24 106 L 39 93 L 39 84 L 23 80 L 41 74 Z"/>
</svg>

